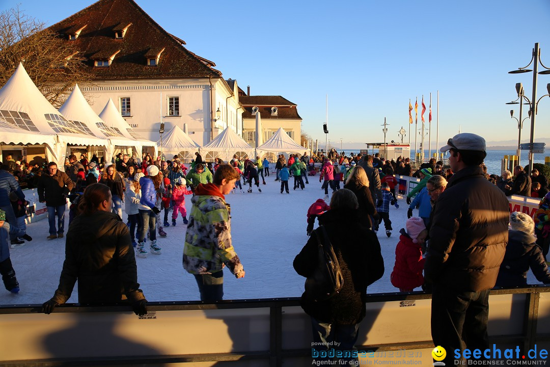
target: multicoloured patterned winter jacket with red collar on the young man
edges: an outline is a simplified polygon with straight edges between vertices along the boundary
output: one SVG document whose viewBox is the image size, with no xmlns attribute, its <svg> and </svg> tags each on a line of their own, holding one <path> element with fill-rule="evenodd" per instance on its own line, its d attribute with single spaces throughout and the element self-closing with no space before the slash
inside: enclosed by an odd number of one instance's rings
<svg viewBox="0 0 550 367">
<path fill-rule="evenodd" d="M 185 234 L 183 267 L 191 274 L 222 271 L 226 264 L 238 276 L 243 265 L 231 243 L 230 207 L 218 187 L 200 184 L 191 199 L 191 215 Z"/>
</svg>

